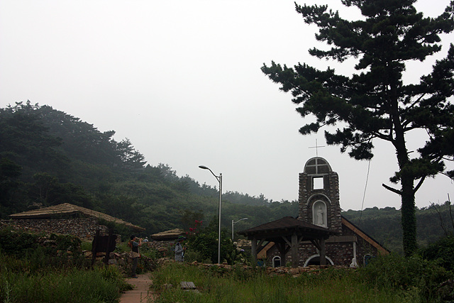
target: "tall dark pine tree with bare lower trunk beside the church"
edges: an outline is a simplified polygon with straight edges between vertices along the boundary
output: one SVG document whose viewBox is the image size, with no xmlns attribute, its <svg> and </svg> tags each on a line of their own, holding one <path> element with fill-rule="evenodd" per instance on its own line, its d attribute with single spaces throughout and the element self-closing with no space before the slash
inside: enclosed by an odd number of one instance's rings
<svg viewBox="0 0 454 303">
<path fill-rule="evenodd" d="M 357 6 L 365 17 L 347 21 L 328 6 L 299 6 L 298 13 L 308 24 L 316 24 L 316 39 L 330 45 L 329 50 L 312 48 L 315 57 L 344 62 L 358 60 L 351 77 L 335 70 L 317 70 L 305 63 L 289 68 L 275 62 L 263 65 L 272 81 L 292 92 L 302 117 L 314 115 L 316 122 L 299 130 L 316 133 L 323 126 L 326 142 L 341 145 L 341 151 L 357 160 L 373 157 L 372 140 L 389 141 L 395 148 L 399 171 L 390 178 L 400 188 L 383 186 L 402 199 L 404 253 L 416 250 L 415 193 L 426 177 L 443 173 L 453 178 L 445 160 L 454 156 L 454 46 L 448 55 L 433 65 L 429 75 L 421 75 L 418 84 L 404 84 L 406 63 L 424 61 L 441 50 L 441 33 L 454 29 L 454 1 L 437 18 L 417 12 L 416 0 L 342 0 L 345 6 Z M 426 143 L 411 153 L 406 144 L 409 131 L 426 131 Z M 411 153 L 411 155 L 410 155 Z"/>
</svg>

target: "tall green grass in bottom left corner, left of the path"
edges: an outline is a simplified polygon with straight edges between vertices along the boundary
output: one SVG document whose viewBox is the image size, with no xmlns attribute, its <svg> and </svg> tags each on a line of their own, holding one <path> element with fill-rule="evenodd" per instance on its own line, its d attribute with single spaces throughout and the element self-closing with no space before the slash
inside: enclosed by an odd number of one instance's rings
<svg viewBox="0 0 454 303">
<path fill-rule="evenodd" d="M 68 256 L 35 250 L 19 258 L 0 255 L 0 302 L 118 302 L 130 288 L 115 267 L 90 270 Z"/>
</svg>

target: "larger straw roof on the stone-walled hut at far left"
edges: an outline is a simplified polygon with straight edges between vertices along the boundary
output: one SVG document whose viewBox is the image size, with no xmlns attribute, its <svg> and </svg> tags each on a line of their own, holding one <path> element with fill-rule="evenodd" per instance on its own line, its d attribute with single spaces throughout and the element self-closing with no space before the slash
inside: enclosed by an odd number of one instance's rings
<svg viewBox="0 0 454 303">
<path fill-rule="evenodd" d="M 10 214 L 9 216 L 11 217 L 11 219 L 50 219 L 54 216 L 73 214 L 84 214 L 85 216 L 92 216 L 98 219 L 114 222 L 115 224 L 122 224 L 136 231 L 145 231 L 145 228 L 143 227 L 136 226 L 134 224 L 115 218 L 113 216 L 109 216 L 108 214 L 103 214 L 99 211 L 86 209 L 82 206 L 77 206 L 70 203 L 58 204 L 54 206 L 45 207 L 42 209 L 33 209 L 31 211 L 23 211 L 18 214 Z"/>
</svg>

